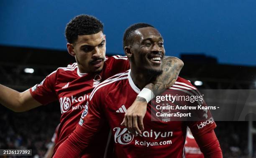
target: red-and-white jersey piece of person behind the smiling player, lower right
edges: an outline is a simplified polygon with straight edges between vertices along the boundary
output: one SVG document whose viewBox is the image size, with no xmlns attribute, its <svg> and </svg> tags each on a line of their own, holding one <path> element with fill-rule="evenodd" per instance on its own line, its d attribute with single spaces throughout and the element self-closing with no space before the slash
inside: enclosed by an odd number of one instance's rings
<svg viewBox="0 0 256 158">
<path fill-rule="evenodd" d="M 187 132 L 187 138 L 185 142 L 186 158 L 204 158 L 203 153 L 200 151 L 195 138 L 192 133 Z"/>
</svg>

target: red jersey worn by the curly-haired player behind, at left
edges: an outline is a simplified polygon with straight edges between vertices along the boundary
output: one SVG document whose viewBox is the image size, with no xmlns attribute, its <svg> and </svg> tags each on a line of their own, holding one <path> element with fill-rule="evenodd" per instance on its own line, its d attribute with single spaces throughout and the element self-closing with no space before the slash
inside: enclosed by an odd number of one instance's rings
<svg viewBox="0 0 256 158">
<path fill-rule="evenodd" d="M 100 74 L 82 74 L 79 72 L 77 63 L 73 63 L 67 67 L 58 68 L 40 84 L 36 84 L 30 89 L 33 98 L 41 104 L 48 104 L 56 100 L 60 102 L 61 118 L 57 134 L 58 142 L 54 151 L 74 131 L 82 111 L 88 109 L 87 99 L 95 86 L 129 67 L 128 58 L 120 55 L 106 57 Z M 104 137 L 102 141 L 108 138 L 108 133 L 99 135 L 97 137 L 99 139 Z M 98 157 L 102 153 L 98 152 L 97 148 L 101 148 L 101 146 L 92 143 L 92 147 L 85 151 L 85 156 Z"/>
</svg>

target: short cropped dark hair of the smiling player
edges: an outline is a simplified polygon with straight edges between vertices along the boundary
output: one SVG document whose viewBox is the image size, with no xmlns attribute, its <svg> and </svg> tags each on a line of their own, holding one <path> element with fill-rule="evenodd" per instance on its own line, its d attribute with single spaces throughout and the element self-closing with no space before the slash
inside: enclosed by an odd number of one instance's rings
<svg viewBox="0 0 256 158">
<path fill-rule="evenodd" d="M 133 43 L 133 34 L 135 30 L 138 30 L 143 27 L 154 27 L 152 25 L 149 25 L 147 23 L 136 23 L 131 26 L 129 26 L 125 33 L 123 34 L 123 49 L 128 46 L 129 44 Z"/>
</svg>

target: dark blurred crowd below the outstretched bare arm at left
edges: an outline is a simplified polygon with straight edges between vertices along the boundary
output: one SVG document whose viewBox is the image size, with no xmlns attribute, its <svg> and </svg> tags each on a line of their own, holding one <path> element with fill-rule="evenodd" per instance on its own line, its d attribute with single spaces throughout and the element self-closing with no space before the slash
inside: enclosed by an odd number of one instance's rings
<svg viewBox="0 0 256 158">
<path fill-rule="evenodd" d="M 1 107 L 0 149 L 32 149 L 34 158 L 43 158 L 59 121 L 58 103 L 22 113 Z"/>
</svg>

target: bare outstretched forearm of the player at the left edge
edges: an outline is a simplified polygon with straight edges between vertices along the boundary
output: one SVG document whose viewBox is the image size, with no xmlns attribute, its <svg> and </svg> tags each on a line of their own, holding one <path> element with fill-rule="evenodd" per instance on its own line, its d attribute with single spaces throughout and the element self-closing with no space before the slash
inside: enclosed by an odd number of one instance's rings
<svg viewBox="0 0 256 158">
<path fill-rule="evenodd" d="M 33 98 L 29 89 L 20 93 L 0 84 L 0 104 L 15 112 L 28 111 L 41 104 Z"/>
</svg>

